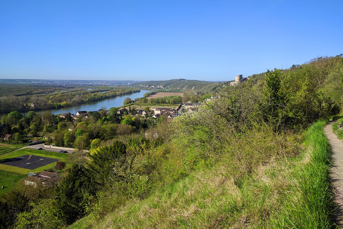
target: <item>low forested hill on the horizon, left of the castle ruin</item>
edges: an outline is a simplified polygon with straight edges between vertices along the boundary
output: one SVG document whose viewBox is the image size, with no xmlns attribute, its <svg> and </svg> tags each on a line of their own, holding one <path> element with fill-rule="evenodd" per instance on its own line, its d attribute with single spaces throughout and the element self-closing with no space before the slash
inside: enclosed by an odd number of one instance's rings
<svg viewBox="0 0 343 229">
<path fill-rule="evenodd" d="M 134 87 L 149 88 L 149 89 L 170 89 L 173 91 L 178 90 L 192 90 L 201 91 L 204 93 L 218 92 L 223 88 L 223 85 L 228 85 L 229 82 L 209 82 L 200 80 L 186 80 L 186 79 L 173 79 L 173 80 L 159 80 L 159 81 L 145 81 L 133 84 Z"/>
</svg>

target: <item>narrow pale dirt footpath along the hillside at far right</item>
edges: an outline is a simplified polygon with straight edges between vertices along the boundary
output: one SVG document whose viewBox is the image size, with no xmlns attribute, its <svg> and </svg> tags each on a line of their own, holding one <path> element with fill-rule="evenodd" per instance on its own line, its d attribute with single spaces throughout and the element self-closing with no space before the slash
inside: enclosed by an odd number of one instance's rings
<svg viewBox="0 0 343 229">
<path fill-rule="evenodd" d="M 333 182 L 333 193 L 335 202 L 338 204 L 336 224 L 343 228 L 343 141 L 332 132 L 332 124 L 324 127 L 324 132 L 329 139 L 333 167 L 331 168 L 331 179 Z"/>
</svg>

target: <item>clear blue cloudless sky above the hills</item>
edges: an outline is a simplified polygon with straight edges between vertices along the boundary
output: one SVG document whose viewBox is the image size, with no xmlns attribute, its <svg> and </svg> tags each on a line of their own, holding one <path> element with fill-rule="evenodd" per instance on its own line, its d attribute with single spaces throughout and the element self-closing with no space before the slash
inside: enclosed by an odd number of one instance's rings
<svg viewBox="0 0 343 229">
<path fill-rule="evenodd" d="M 343 53 L 343 1 L 0 2 L 0 78 L 234 80 Z"/>
</svg>

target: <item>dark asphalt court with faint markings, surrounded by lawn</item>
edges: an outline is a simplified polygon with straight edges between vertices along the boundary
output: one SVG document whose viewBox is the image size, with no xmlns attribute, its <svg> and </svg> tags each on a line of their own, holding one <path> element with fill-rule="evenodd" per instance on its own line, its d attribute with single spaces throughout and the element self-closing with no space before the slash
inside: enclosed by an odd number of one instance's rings
<svg viewBox="0 0 343 229">
<path fill-rule="evenodd" d="M 59 161 L 59 159 L 46 158 L 46 157 L 40 157 L 40 156 L 27 154 L 27 155 L 16 157 L 16 158 L 5 159 L 4 161 L 1 161 L 0 164 L 6 164 L 6 165 L 11 165 L 11 166 L 19 167 L 19 168 L 32 170 L 32 169 L 37 169 L 44 165 L 50 164 L 55 161 Z"/>
</svg>

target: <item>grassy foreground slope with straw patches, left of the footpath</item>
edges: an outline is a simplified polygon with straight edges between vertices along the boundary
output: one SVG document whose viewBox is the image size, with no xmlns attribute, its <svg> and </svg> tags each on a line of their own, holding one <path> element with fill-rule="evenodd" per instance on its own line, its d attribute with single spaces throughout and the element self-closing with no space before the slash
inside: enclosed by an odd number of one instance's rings
<svg viewBox="0 0 343 229">
<path fill-rule="evenodd" d="M 239 182 L 229 172 L 230 162 L 219 162 L 143 201 L 130 201 L 104 218 L 88 215 L 68 229 L 331 228 L 335 205 L 326 123 L 308 129 L 298 156 L 261 164 Z"/>
</svg>

